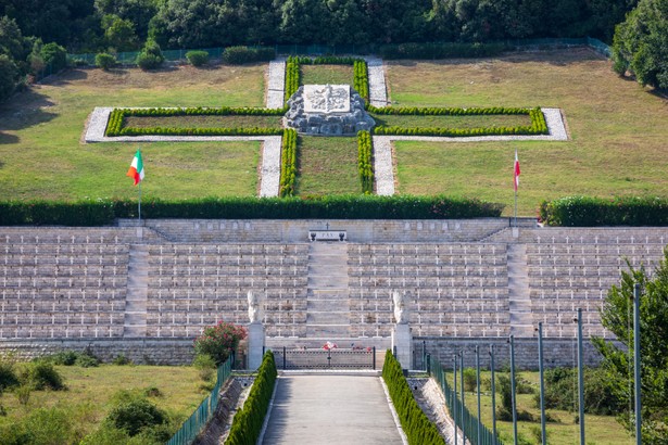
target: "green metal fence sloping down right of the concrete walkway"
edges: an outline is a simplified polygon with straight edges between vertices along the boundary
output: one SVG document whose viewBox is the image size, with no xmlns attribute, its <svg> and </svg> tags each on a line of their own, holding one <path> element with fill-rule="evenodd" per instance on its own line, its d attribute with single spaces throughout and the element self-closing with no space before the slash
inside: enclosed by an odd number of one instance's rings
<svg viewBox="0 0 668 445">
<path fill-rule="evenodd" d="M 476 416 L 469 412 L 466 404 L 462 405 L 457 394 L 450 387 L 441 364 L 434 359 L 428 359 L 427 363 L 429 364 L 429 373 L 439 382 L 439 386 L 445 396 L 450 415 L 455 424 L 462 429 L 464 436 L 474 445 L 503 445 L 503 442 L 494 437 L 492 432 Z"/>
</svg>

